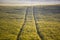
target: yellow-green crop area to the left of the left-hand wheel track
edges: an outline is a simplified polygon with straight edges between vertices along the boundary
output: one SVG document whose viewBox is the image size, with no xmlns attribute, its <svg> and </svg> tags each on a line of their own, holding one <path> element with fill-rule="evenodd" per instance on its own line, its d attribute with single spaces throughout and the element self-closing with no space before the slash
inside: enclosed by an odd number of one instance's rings
<svg viewBox="0 0 60 40">
<path fill-rule="evenodd" d="M 26 8 L 0 7 L 0 40 L 16 40 Z"/>
</svg>

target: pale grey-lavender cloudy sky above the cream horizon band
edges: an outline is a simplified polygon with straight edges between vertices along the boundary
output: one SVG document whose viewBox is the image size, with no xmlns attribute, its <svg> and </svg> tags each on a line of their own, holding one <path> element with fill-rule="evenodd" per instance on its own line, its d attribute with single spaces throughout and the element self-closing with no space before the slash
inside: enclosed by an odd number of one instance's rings
<svg viewBox="0 0 60 40">
<path fill-rule="evenodd" d="M 0 0 L 0 4 L 60 4 L 60 0 Z"/>
</svg>

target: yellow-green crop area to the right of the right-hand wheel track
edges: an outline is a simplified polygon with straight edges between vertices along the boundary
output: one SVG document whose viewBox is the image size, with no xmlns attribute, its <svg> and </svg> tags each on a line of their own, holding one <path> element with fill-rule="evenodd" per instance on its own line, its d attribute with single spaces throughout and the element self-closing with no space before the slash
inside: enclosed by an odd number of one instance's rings
<svg viewBox="0 0 60 40">
<path fill-rule="evenodd" d="M 34 15 L 42 40 L 60 40 L 60 6 L 34 7 Z"/>
</svg>

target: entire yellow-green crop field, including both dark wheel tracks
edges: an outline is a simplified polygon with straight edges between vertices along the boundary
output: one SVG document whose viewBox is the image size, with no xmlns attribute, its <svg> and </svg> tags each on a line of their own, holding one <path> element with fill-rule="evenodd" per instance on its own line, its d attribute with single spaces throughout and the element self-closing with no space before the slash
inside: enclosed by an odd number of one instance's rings
<svg viewBox="0 0 60 40">
<path fill-rule="evenodd" d="M 0 6 L 0 40 L 60 40 L 60 6 Z"/>
</svg>

